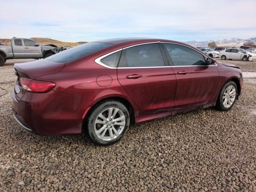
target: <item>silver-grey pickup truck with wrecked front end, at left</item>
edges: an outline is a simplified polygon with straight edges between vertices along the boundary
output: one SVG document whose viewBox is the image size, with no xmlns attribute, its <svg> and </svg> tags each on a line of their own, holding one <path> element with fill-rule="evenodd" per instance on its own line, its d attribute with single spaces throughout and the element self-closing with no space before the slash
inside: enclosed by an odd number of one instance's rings
<svg viewBox="0 0 256 192">
<path fill-rule="evenodd" d="M 32 39 L 12 38 L 11 45 L 0 44 L 0 66 L 3 66 L 8 59 L 46 58 L 57 52 L 57 48 L 40 45 Z"/>
</svg>

